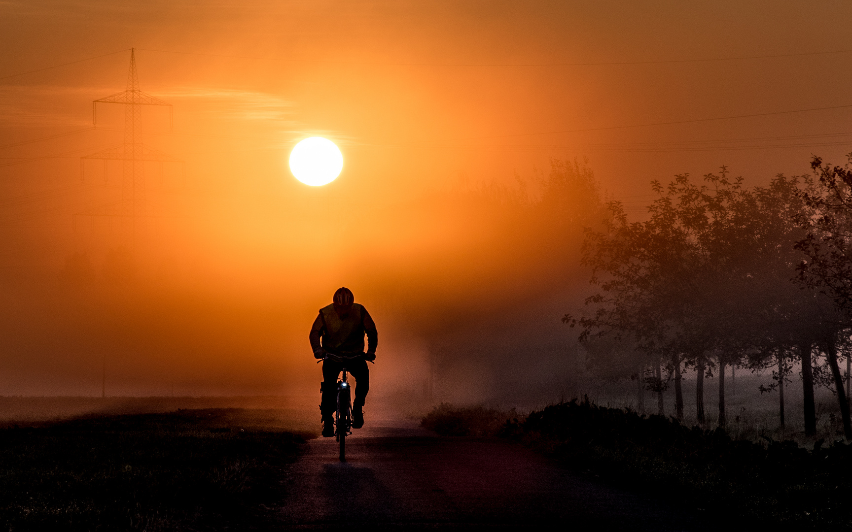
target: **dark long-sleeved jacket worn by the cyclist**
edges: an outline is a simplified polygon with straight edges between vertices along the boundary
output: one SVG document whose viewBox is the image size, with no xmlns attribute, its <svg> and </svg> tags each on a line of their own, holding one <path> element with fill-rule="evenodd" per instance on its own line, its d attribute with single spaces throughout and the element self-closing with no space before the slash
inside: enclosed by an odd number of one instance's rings
<svg viewBox="0 0 852 532">
<path fill-rule="evenodd" d="M 334 305 L 324 306 L 311 327 L 311 348 L 314 352 L 364 352 L 364 335 L 367 336 L 367 352 L 376 352 L 378 333 L 370 313 L 363 305 L 353 303 L 352 310 L 341 318 Z"/>
</svg>

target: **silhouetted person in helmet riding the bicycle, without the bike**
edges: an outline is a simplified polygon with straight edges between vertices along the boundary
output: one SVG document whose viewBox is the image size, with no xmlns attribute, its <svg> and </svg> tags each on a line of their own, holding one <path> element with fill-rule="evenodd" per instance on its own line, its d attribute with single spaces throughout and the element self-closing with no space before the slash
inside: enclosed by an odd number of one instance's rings
<svg viewBox="0 0 852 532">
<path fill-rule="evenodd" d="M 325 358 L 325 353 L 349 355 L 364 353 L 364 335 L 367 336 L 367 350 L 363 358 L 349 360 L 346 369 L 355 380 L 355 400 L 352 405 L 352 427 L 364 426 L 364 399 L 370 391 L 370 369 L 367 361 L 376 360 L 378 333 L 370 313 L 363 305 L 355 303 L 352 291 L 346 287 L 337 289 L 334 302 L 320 309 L 320 315 L 311 327 L 311 348 L 314 358 Z M 326 358 L 322 363 L 320 383 L 320 413 L 322 414 L 322 435 L 334 436 L 334 412 L 337 409 L 337 375 L 343 369 L 343 363 Z"/>
</svg>

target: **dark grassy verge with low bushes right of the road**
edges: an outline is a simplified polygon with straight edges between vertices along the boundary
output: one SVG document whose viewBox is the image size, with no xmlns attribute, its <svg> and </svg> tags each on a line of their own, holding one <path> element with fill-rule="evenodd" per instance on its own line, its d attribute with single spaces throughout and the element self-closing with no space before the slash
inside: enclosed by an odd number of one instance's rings
<svg viewBox="0 0 852 532">
<path fill-rule="evenodd" d="M 708 519 L 737 523 L 736 529 L 852 529 L 852 445 L 733 441 L 722 428 L 689 428 L 588 400 L 555 404 L 526 419 L 511 415 L 442 404 L 423 426 L 447 436 L 512 438 L 575 471 L 658 494 Z"/>
</svg>

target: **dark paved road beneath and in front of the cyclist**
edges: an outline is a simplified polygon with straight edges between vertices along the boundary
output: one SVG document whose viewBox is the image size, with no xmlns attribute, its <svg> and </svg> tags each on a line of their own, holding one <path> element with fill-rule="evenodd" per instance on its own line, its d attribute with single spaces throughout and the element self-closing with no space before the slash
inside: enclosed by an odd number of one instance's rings
<svg viewBox="0 0 852 532">
<path fill-rule="evenodd" d="M 369 420 L 368 420 L 369 422 Z M 699 530 L 686 516 L 597 483 L 498 438 L 441 438 L 416 421 L 374 421 L 307 443 L 291 466 L 283 529 Z"/>
</svg>

